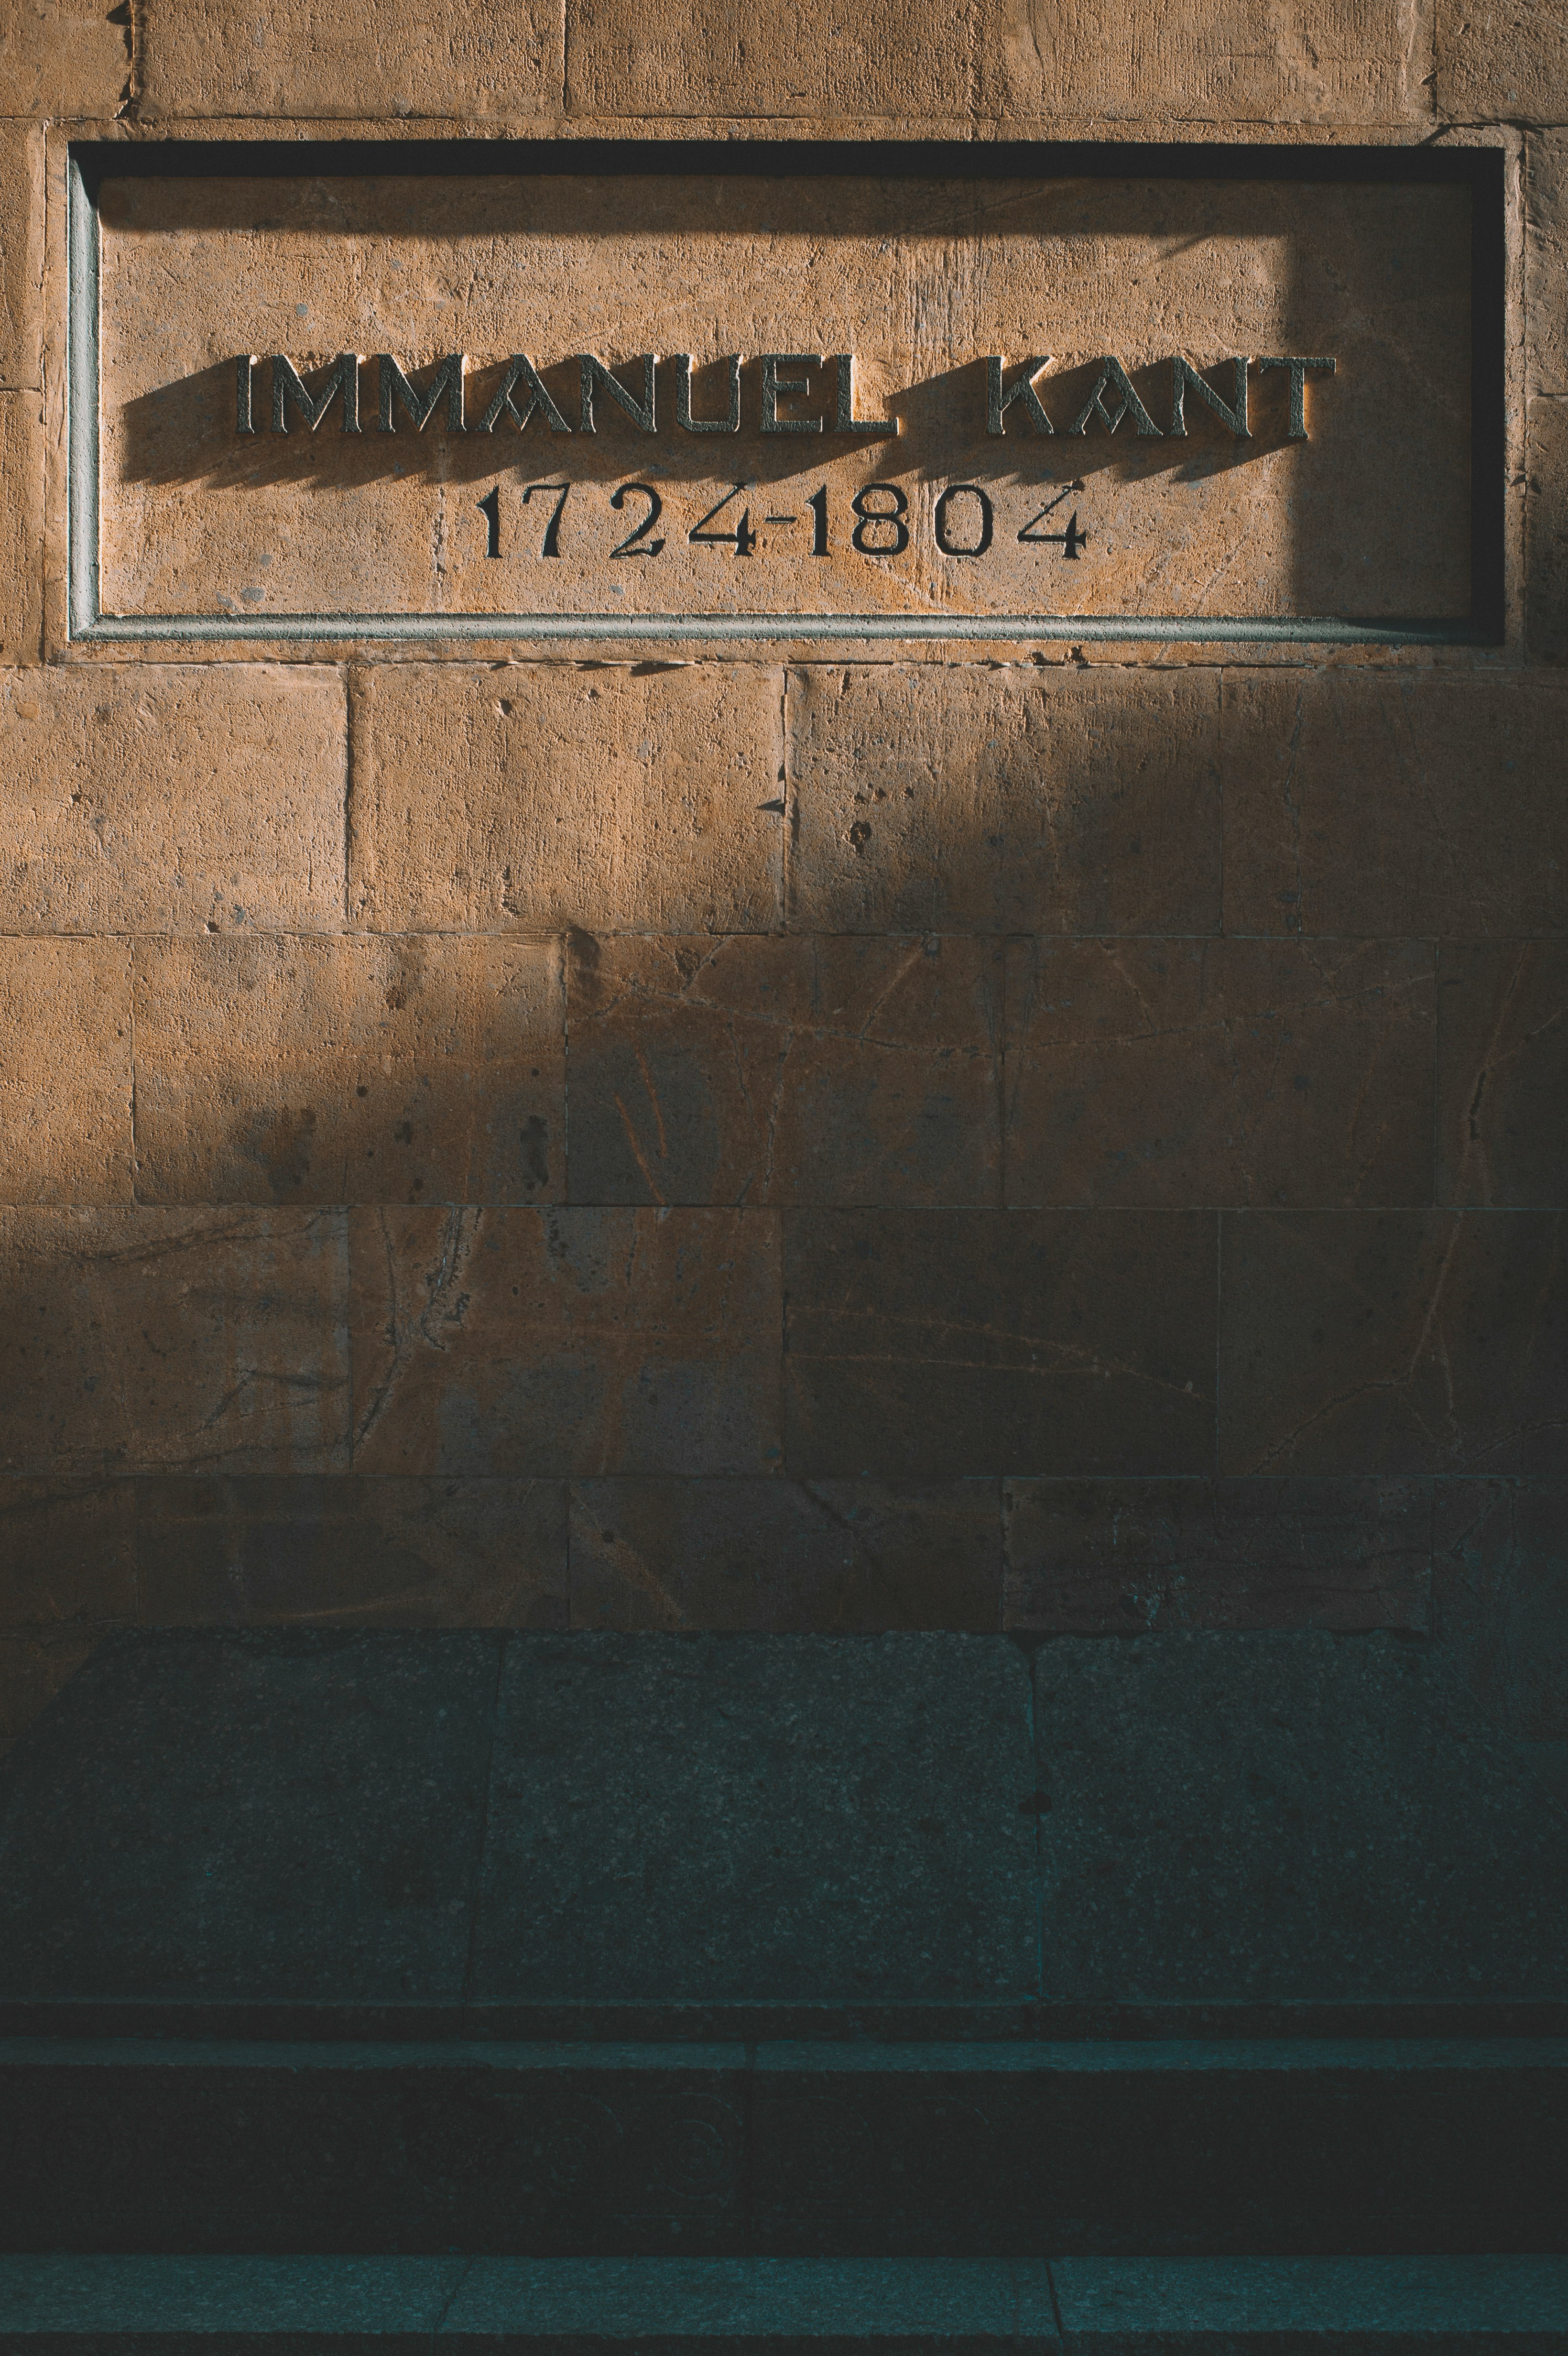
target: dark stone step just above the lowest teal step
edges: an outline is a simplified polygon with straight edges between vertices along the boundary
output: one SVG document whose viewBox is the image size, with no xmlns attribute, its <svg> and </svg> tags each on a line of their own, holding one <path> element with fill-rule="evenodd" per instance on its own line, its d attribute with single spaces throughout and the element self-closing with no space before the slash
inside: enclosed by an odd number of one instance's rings
<svg viewBox="0 0 1568 2356">
<path fill-rule="evenodd" d="M 1568 2040 L 0 2043 L 0 2248 L 1568 2250 Z"/>
</svg>

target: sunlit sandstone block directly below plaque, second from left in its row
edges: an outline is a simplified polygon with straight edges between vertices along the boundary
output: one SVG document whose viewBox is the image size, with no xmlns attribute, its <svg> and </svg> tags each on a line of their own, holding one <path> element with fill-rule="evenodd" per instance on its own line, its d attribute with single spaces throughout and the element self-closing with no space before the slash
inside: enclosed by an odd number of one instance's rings
<svg viewBox="0 0 1568 2356">
<path fill-rule="evenodd" d="M 393 664 L 367 674 L 358 742 L 372 931 L 777 921 L 777 671 Z"/>
</svg>

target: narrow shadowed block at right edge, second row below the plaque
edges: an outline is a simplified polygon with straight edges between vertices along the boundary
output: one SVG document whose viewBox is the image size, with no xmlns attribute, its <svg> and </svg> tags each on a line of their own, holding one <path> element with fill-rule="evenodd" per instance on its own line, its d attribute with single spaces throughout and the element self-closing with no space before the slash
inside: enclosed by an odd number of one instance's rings
<svg viewBox="0 0 1568 2356">
<path fill-rule="evenodd" d="M 1439 1202 L 1563 1202 L 1566 1018 L 1566 942 L 1443 945 Z"/>
</svg>

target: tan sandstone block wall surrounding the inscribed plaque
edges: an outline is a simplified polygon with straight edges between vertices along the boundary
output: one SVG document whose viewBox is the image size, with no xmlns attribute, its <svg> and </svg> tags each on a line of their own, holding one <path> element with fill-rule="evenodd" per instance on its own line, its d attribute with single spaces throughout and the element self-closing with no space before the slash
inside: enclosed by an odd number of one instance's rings
<svg viewBox="0 0 1568 2356">
<path fill-rule="evenodd" d="M 73 130 L 1497 144 L 1507 646 L 78 660 Z M 137 1621 L 1434 1614 L 1563 1739 L 1566 318 L 1526 5 L 14 0 L 0 1739 Z"/>
</svg>

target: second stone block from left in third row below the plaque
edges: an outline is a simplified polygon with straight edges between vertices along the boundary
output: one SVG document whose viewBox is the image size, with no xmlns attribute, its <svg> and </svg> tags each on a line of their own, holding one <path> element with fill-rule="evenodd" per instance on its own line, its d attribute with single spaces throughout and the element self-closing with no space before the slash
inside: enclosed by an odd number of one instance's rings
<svg viewBox="0 0 1568 2356">
<path fill-rule="evenodd" d="M 351 1211 L 360 1472 L 772 1472 L 770 1211 Z"/>
</svg>

